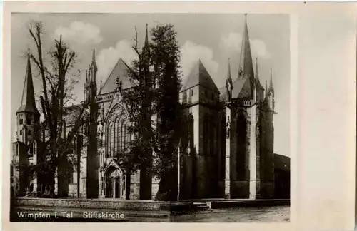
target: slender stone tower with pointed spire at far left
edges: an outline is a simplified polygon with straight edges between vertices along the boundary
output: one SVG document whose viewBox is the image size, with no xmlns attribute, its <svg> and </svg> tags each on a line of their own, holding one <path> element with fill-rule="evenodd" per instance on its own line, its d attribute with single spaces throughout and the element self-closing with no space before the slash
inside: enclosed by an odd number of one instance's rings
<svg viewBox="0 0 357 231">
<path fill-rule="evenodd" d="M 11 193 L 14 196 L 38 190 L 37 175 L 26 173 L 26 166 L 36 165 L 40 114 L 36 108 L 30 54 L 27 57 L 21 106 L 16 111 L 16 142 L 12 144 Z"/>
</svg>

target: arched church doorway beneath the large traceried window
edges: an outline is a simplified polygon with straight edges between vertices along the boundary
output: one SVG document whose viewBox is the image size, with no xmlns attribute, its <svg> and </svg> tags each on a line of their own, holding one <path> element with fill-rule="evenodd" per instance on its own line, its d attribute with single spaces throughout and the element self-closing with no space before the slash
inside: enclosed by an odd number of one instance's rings
<svg viewBox="0 0 357 231">
<path fill-rule="evenodd" d="M 104 193 L 106 198 L 125 199 L 125 178 L 119 168 L 111 165 L 104 175 Z"/>
</svg>

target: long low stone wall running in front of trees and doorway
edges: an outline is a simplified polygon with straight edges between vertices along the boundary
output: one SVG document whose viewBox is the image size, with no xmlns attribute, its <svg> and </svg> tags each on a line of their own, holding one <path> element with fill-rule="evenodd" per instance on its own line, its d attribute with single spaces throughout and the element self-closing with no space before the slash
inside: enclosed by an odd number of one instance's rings
<svg viewBox="0 0 357 231">
<path fill-rule="evenodd" d="M 193 202 L 159 202 L 151 200 L 87 200 L 87 199 L 48 199 L 14 198 L 14 207 L 70 207 L 131 211 L 173 211 L 190 210 Z"/>
</svg>

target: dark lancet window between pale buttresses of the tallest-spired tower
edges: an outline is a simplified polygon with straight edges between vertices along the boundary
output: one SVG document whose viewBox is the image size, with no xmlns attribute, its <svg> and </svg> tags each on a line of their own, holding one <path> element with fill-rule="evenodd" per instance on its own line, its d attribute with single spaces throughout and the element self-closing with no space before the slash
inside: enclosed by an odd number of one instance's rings
<svg viewBox="0 0 357 231">
<path fill-rule="evenodd" d="M 243 115 L 239 115 L 237 123 L 236 123 L 237 180 L 245 180 L 245 178 L 246 178 L 246 134 L 247 134 L 246 118 Z"/>
</svg>

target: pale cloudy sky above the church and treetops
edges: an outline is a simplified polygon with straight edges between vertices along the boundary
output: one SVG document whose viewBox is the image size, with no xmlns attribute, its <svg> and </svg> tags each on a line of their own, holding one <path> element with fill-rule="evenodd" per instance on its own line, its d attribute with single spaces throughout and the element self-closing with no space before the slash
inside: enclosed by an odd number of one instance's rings
<svg viewBox="0 0 357 231">
<path fill-rule="evenodd" d="M 85 71 L 91 61 L 91 50 L 96 49 L 98 84 L 109 76 L 119 58 L 129 62 L 135 58 L 131 46 L 138 30 L 139 43 L 144 41 L 145 25 L 174 24 L 181 47 L 182 78 L 193 63 L 201 59 L 218 88 L 224 86 L 228 58 L 231 73 L 237 76 L 238 57 L 243 33 L 243 14 L 12 14 L 11 20 L 11 128 L 21 103 L 21 90 L 26 71 L 27 48 L 34 50 L 34 42 L 27 31 L 29 22 L 44 24 L 44 50 L 48 51 L 59 35 L 76 51 L 75 70 Z M 261 83 L 265 86 L 273 69 L 276 92 L 274 151 L 289 155 L 290 120 L 290 26 L 288 15 L 248 14 L 248 29 L 253 60 L 258 57 Z M 255 63 L 254 63 L 255 66 Z M 34 76 L 36 68 L 32 66 Z M 75 86 L 78 100 L 83 98 L 85 76 Z M 41 90 L 39 78 L 34 78 L 35 91 Z M 13 135 L 14 136 L 14 135 Z"/>
</svg>

